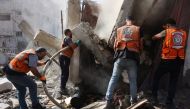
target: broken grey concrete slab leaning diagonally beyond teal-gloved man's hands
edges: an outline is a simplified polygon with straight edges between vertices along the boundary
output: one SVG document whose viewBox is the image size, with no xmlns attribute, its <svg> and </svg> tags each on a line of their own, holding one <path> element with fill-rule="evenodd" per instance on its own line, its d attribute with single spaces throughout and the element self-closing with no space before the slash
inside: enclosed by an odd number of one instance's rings
<svg viewBox="0 0 190 109">
<path fill-rule="evenodd" d="M 100 38 L 94 33 L 88 23 L 80 23 L 72 32 L 77 39 L 82 41 L 82 44 L 92 51 L 103 66 L 111 66 L 110 58 L 113 57 L 112 54 L 99 44 L 101 41 Z"/>
</svg>

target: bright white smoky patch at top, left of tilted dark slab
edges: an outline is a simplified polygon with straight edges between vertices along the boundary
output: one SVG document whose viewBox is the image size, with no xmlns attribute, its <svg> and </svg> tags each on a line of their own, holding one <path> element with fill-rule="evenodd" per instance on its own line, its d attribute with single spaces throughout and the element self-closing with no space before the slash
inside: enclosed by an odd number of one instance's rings
<svg viewBox="0 0 190 109">
<path fill-rule="evenodd" d="M 123 1 L 124 0 L 104 0 L 100 2 L 101 9 L 95 33 L 101 39 L 108 41 L 118 18 Z"/>
</svg>

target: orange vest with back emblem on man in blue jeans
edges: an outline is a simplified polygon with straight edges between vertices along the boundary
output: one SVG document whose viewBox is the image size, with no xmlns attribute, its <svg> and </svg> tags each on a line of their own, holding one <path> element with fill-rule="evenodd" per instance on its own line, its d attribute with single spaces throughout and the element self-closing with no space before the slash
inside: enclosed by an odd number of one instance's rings
<svg viewBox="0 0 190 109">
<path fill-rule="evenodd" d="M 117 38 L 114 49 L 139 52 L 140 50 L 140 27 L 135 25 L 125 25 L 117 29 Z"/>
</svg>

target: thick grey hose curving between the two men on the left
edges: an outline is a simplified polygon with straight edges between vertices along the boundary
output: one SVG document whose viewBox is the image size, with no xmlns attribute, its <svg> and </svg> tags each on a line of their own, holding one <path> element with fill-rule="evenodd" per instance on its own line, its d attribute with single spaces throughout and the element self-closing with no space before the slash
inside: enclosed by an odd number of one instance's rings
<svg viewBox="0 0 190 109">
<path fill-rule="evenodd" d="M 61 53 L 62 51 L 65 51 L 65 50 L 68 49 L 68 48 L 69 48 L 68 46 L 65 47 L 65 48 L 62 48 L 61 50 L 59 50 L 58 52 L 56 52 L 56 53 L 50 58 L 50 61 L 48 61 L 48 62 L 46 63 L 46 65 L 44 66 L 44 68 L 43 68 L 43 72 L 42 72 L 43 75 L 45 75 L 46 70 L 47 70 L 47 68 L 50 66 L 50 63 L 52 62 L 52 60 L 54 60 L 54 58 L 55 58 L 57 55 L 59 55 L 59 53 Z M 49 98 L 56 106 L 58 106 L 59 108 L 65 109 L 65 107 L 64 107 L 63 105 L 61 105 L 60 103 L 58 103 L 58 102 L 49 94 L 49 92 L 48 92 L 48 90 L 47 90 L 47 87 L 46 87 L 46 84 L 43 83 L 43 82 L 42 82 L 42 84 L 43 84 L 43 89 L 44 89 L 46 95 L 48 96 L 48 98 Z"/>
</svg>

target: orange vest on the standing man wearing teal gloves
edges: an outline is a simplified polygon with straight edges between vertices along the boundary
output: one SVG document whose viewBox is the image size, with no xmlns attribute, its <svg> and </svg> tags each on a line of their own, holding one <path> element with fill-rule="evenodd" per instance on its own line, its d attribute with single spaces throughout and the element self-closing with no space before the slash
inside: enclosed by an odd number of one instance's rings
<svg viewBox="0 0 190 109">
<path fill-rule="evenodd" d="M 65 38 L 66 38 L 66 37 L 65 37 Z M 65 38 L 64 38 L 64 40 L 65 40 Z M 69 48 L 66 49 L 66 50 L 64 50 L 64 51 L 62 52 L 62 54 L 63 54 L 64 56 L 67 56 L 67 57 L 71 58 L 71 57 L 73 56 L 74 49 L 77 48 L 77 44 L 72 43 L 72 44 L 70 44 L 70 45 L 66 45 L 66 44 L 64 44 L 64 41 L 63 41 L 63 44 L 62 44 L 62 45 L 63 45 L 62 48 L 66 47 L 66 46 L 69 46 Z"/>
</svg>

